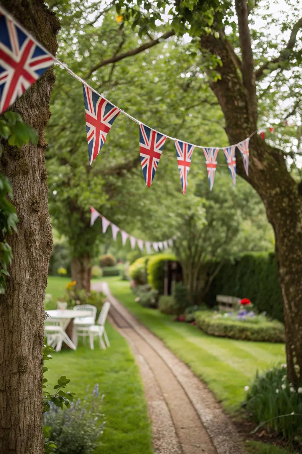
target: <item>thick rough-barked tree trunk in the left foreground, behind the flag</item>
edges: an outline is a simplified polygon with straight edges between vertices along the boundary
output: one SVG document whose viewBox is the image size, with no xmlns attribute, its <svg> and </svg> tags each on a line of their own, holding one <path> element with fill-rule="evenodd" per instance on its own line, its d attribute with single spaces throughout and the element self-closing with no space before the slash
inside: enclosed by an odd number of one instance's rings
<svg viewBox="0 0 302 454">
<path fill-rule="evenodd" d="M 3 0 L 6 9 L 52 53 L 58 20 L 39 0 Z M 42 454 L 42 348 L 44 296 L 53 237 L 48 214 L 44 129 L 54 83 L 53 69 L 13 106 L 39 135 L 38 146 L 3 144 L 1 171 L 10 178 L 19 217 L 8 237 L 14 254 L 0 295 L 0 452 Z"/>
</svg>

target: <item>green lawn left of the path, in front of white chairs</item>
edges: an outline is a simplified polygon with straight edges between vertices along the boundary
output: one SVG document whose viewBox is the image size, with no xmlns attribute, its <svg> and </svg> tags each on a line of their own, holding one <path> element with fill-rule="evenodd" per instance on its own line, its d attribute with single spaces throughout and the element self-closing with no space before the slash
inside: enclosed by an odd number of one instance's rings
<svg viewBox="0 0 302 454">
<path fill-rule="evenodd" d="M 58 281 L 64 278 L 58 278 Z M 52 278 L 51 286 L 57 278 Z M 48 285 L 50 282 L 48 282 Z M 59 294 L 59 289 L 56 289 Z M 101 436 L 101 447 L 95 454 L 153 454 L 151 426 L 144 399 L 139 369 L 125 339 L 107 323 L 110 348 L 95 350 L 81 346 L 76 351 L 61 350 L 53 353 L 45 374 L 49 385 L 54 385 L 61 375 L 71 381 L 68 390 L 77 398 L 90 392 L 96 383 L 104 394 L 101 413 L 106 421 Z M 68 410 L 67 410 L 68 411 Z"/>
</svg>

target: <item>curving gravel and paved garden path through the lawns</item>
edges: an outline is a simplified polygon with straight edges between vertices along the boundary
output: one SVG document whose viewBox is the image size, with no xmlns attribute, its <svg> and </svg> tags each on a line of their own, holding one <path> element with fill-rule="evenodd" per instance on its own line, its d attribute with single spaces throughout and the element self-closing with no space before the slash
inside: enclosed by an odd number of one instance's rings
<svg viewBox="0 0 302 454">
<path fill-rule="evenodd" d="M 242 454 L 239 436 L 206 385 L 114 296 L 110 321 L 129 341 L 144 382 L 155 454 Z"/>
</svg>

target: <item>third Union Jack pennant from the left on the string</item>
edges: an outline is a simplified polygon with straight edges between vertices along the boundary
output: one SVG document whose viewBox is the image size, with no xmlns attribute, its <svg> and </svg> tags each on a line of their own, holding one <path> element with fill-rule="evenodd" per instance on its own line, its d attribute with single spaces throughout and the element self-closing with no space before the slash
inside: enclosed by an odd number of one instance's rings
<svg viewBox="0 0 302 454">
<path fill-rule="evenodd" d="M 139 124 L 139 151 L 144 178 L 147 186 L 151 186 L 159 159 L 163 151 L 166 136 L 157 133 L 144 124 Z"/>
</svg>

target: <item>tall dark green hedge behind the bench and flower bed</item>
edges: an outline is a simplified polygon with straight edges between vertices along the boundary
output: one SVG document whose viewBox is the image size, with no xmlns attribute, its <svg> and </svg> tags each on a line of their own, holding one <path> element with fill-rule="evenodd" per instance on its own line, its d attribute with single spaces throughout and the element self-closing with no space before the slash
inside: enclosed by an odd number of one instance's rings
<svg viewBox="0 0 302 454">
<path fill-rule="evenodd" d="M 215 263 L 209 263 L 208 273 L 215 267 Z M 225 262 L 205 297 L 207 306 L 216 304 L 216 295 L 249 298 L 257 312 L 265 311 L 270 317 L 283 321 L 282 293 L 273 253 L 250 252 L 234 262 Z"/>
</svg>

